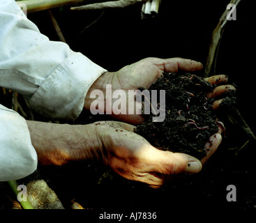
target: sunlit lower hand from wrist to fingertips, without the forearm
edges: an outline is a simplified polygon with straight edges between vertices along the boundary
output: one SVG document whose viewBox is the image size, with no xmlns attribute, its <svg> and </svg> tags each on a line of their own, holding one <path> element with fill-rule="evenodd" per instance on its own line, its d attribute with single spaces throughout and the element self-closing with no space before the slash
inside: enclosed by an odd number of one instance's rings
<svg viewBox="0 0 256 223">
<path fill-rule="evenodd" d="M 102 144 L 103 162 L 117 174 L 157 188 L 175 174 L 196 174 L 202 164 L 216 151 L 221 142 L 222 129 L 206 143 L 206 157 L 201 162 L 185 153 L 160 151 L 146 139 L 133 132 L 135 126 L 114 121 L 96 123 L 98 139 Z"/>
</svg>

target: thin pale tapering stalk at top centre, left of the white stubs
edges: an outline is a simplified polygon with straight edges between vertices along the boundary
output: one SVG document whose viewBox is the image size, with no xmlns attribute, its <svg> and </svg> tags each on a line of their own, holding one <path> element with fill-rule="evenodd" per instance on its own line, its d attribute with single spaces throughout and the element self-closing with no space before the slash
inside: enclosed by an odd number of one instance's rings
<svg viewBox="0 0 256 223">
<path fill-rule="evenodd" d="M 135 3 L 144 2 L 145 0 L 119 0 L 119 1 L 107 1 L 102 3 L 92 3 L 85 6 L 72 7 L 70 10 L 96 10 L 104 8 L 125 8 L 132 6 Z"/>
</svg>

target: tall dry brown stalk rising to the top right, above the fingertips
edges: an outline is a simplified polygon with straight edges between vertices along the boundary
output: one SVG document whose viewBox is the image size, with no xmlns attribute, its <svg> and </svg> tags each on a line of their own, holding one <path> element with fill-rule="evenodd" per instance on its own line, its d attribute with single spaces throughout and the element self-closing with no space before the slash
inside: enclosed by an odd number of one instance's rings
<svg viewBox="0 0 256 223">
<path fill-rule="evenodd" d="M 232 1 L 230 1 L 230 3 L 233 3 L 235 6 L 237 6 L 240 1 L 241 0 L 232 0 Z M 204 77 L 209 77 L 209 73 L 211 72 L 211 66 L 213 63 L 213 59 L 216 57 L 216 49 L 220 43 L 220 38 L 222 36 L 222 32 L 223 32 L 223 30 L 225 28 L 225 24 L 227 23 L 227 20 L 229 18 L 227 16 L 227 13 L 229 13 L 229 15 L 230 15 L 232 12 L 229 12 L 229 10 L 226 9 L 225 12 L 223 13 L 223 15 L 220 17 L 220 22 L 216 26 L 216 29 L 214 29 L 214 31 L 213 31 L 209 54 L 207 57 L 206 66 L 205 66 L 205 70 L 204 70 Z"/>
</svg>

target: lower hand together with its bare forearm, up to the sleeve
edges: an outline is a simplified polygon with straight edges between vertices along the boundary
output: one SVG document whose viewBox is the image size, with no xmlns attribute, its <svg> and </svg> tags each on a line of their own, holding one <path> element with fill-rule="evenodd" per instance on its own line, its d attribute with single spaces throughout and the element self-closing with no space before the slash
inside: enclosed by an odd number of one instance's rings
<svg viewBox="0 0 256 223">
<path fill-rule="evenodd" d="M 89 125 L 66 125 L 27 121 L 39 164 L 63 165 L 78 160 L 98 160 L 117 174 L 160 187 L 175 174 L 195 174 L 216 151 L 221 128 L 206 143 L 201 162 L 184 153 L 160 151 L 133 132 L 135 126 L 102 121 Z"/>
</svg>

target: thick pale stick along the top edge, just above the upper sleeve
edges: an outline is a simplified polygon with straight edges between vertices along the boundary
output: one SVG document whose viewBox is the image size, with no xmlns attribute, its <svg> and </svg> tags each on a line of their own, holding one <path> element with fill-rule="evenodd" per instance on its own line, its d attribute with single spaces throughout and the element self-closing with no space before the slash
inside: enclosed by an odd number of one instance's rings
<svg viewBox="0 0 256 223">
<path fill-rule="evenodd" d="M 80 3 L 82 1 L 89 0 L 26 0 L 16 1 L 17 4 L 24 4 L 27 6 L 27 13 L 34 13 L 40 10 L 47 10 L 50 8 L 56 8 L 60 6 L 66 6 L 68 4 Z"/>
</svg>

